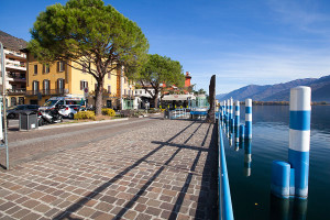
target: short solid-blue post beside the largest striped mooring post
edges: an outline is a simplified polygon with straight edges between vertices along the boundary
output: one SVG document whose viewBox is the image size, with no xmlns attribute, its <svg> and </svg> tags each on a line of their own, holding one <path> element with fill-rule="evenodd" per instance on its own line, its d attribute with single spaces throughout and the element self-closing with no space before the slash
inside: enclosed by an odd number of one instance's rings
<svg viewBox="0 0 330 220">
<path fill-rule="evenodd" d="M 279 198 L 290 196 L 290 165 L 286 162 L 273 161 L 271 191 Z"/>
</svg>

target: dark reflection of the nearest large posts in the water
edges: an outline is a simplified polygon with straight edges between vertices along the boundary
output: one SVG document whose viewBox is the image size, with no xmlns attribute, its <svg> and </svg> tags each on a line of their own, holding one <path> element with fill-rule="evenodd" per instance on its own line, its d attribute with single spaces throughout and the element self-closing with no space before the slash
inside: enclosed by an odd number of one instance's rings
<svg viewBox="0 0 330 220">
<path fill-rule="evenodd" d="M 271 220 L 306 220 L 307 199 L 282 199 L 271 195 Z"/>
</svg>

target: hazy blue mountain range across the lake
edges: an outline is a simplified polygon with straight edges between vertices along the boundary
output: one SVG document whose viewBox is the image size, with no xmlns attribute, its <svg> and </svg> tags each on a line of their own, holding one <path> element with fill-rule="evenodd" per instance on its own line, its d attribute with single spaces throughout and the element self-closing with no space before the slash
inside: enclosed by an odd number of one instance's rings
<svg viewBox="0 0 330 220">
<path fill-rule="evenodd" d="M 251 98 L 254 101 L 288 101 L 290 88 L 308 86 L 311 88 L 311 101 L 330 102 L 330 75 L 321 78 L 305 78 L 275 85 L 249 85 L 229 94 L 217 95 L 217 99 L 243 101 Z"/>
</svg>

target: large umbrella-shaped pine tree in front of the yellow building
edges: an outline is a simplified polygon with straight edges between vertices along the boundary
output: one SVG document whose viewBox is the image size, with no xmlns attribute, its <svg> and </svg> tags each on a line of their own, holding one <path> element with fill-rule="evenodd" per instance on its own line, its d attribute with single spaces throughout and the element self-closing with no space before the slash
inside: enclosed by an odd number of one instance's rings
<svg viewBox="0 0 330 220">
<path fill-rule="evenodd" d="M 97 114 L 101 113 L 105 76 L 124 66 L 125 75 L 133 78 L 148 50 L 138 24 L 102 0 L 69 0 L 65 6 L 50 6 L 36 18 L 31 34 L 28 47 L 40 62 L 64 61 L 96 78 Z"/>
</svg>

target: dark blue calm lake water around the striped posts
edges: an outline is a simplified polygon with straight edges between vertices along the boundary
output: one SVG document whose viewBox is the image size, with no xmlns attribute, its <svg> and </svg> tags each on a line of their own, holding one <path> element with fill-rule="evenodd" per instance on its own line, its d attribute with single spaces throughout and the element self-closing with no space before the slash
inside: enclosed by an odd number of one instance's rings
<svg viewBox="0 0 330 220">
<path fill-rule="evenodd" d="M 241 109 L 244 123 L 244 108 Z M 314 106 L 311 110 L 307 200 L 271 196 L 272 162 L 288 161 L 288 106 L 256 106 L 252 142 L 239 145 L 224 134 L 235 220 L 330 219 L 330 107 Z"/>
</svg>

